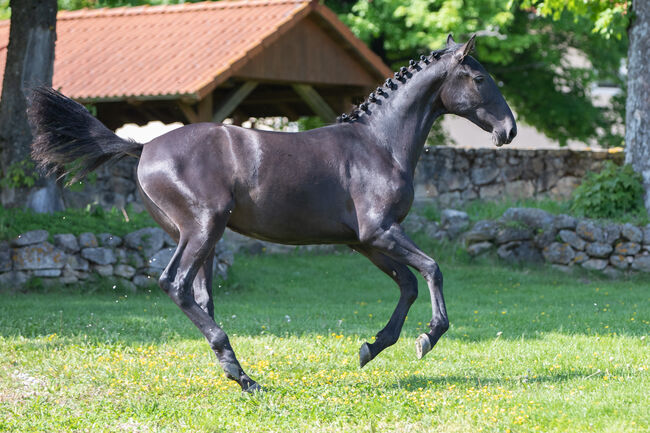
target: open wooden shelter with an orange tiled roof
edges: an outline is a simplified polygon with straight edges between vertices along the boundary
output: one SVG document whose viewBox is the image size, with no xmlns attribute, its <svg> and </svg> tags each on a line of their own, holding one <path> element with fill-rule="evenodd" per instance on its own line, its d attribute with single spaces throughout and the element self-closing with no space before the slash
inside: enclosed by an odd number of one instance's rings
<svg viewBox="0 0 650 433">
<path fill-rule="evenodd" d="M 9 22 L 0 23 L 4 71 Z M 334 121 L 390 69 L 317 1 L 61 11 L 53 86 L 124 123 L 319 115 Z M 0 80 L 1 82 L 1 80 Z"/>
</svg>

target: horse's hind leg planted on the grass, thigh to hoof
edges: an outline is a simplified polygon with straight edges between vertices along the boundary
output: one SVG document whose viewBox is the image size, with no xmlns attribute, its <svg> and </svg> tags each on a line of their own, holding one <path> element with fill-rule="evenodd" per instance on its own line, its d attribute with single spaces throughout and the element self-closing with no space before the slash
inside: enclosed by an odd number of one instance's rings
<svg viewBox="0 0 650 433">
<path fill-rule="evenodd" d="M 207 270 L 206 260 L 211 259 L 210 253 L 223 234 L 226 220 L 225 215 L 201 215 L 195 219 L 199 226 L 181 227 L 178 247 L 160 277 L 160 287 L 203 333 L 226 376 L 242 390 L 252 392 L 260 389 L 259 385 L 241 368 L 228 336 L 196 302 L 192 290 L 199 269 L 203 266 L 204 272 Z"/>
</svg>

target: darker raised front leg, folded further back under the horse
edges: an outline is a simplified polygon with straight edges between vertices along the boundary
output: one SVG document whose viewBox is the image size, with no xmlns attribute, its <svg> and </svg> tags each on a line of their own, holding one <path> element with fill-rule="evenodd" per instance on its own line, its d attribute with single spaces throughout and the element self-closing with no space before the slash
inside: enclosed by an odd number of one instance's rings
<svg viewBox="0 0 650 433">
<path fill-rule="evenodd" d="M 375 266 L 391 277 L 400 289 L 399 301 L 384 329 L 377 333 L 374 343 L 363 343 L 359 350 L 359 365 L 363 367 L 382 350 L 392 346 L 399 339 L 406 315 L 418 296 L 418 281 L 407 266 L 396 262 L 374 248 L 359 245 L 351 246 L 351 248 L 366 256 Z"/>
</svg>

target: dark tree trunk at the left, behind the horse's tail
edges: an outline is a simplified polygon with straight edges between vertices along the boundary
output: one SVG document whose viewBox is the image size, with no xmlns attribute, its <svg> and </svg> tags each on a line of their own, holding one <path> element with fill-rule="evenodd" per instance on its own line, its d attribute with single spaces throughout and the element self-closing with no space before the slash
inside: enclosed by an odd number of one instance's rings
<svg viewBox="0 0 650 433">
<path fill-rule="evenodd" d="M 29 88 L 52 85 L 56 0 L 11 0 L 11 26 L 0 100 L 0 163 L 3 206 L 28 205 L 37 211 L 63 209 L 54 179 L 35 179 L 29 157 L 32 135 L 27 122 Z"/>
</svg>

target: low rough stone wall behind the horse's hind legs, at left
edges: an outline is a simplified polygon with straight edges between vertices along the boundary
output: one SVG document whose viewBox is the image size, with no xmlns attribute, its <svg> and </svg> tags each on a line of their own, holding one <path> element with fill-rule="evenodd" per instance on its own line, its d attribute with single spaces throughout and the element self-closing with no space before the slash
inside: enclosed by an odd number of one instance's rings
<svg viewBox="0 0 650 433">
<path fill-rule="evenodd" d="M 30 278 L 46 283 L 74 284 L 97 274 L 135 289 L 158 282 L 176 249 L 159 228 L 144 228 L 124 238 L 109 233 L 56 234 L 46 230 L 23 233 L 0 243 L 0 286 L 18 287 Z M 220 241 L 214 274 L 226 279 L 233 253 Z"/>
</svg>

